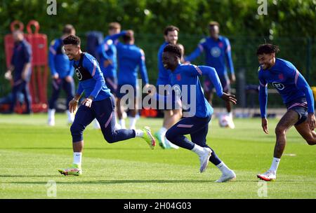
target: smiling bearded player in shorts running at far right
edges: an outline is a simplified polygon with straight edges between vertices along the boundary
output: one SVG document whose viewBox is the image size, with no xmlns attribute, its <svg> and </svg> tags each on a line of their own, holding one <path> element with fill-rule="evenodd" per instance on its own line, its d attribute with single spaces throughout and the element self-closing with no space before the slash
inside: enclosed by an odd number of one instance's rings
<svg viewBox="0 0 316 213">
<path fill-rule="evenodd" d="M 277 178 L 277 167 L 286 144 L 286 132 L 293 125 L 309 145 L 316 144 L 314 97 L 310 86 L 302 74 L 291 62 L 276 58 L 279 51 L 277 46 L 263 44 L 257 50 L 258 78 L 260 81 L 259 101 L 262 118 L 263 131 L 268 134 L 268 121 L 266 108 L 268 102 L 268 83 L 277 89 L 284 104 L 287 106 L 287 113 L 281 118 L 275 134 L 277 142 L 273 155 L 270 170 L 257 177 L 265 181 L 274 181 Z"/>
</svg>

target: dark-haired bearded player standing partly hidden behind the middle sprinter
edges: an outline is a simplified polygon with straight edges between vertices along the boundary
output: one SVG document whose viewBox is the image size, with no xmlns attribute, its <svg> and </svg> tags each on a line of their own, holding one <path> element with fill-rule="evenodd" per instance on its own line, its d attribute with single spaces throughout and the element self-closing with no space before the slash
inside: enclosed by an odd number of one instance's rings
<svg viewBox="0 0 316 213">
<path fill-rule="evenodd" d="M 176 44 L 178 42 L 178 27 L 175 26 L 167 26 L 164 29 L 164 43 L 160 46 L 158 51 L 158 78 L 157 78 L 157 92 L 159 92 L 159 88 L 164 88 L 166 85 L 169 85 L 169 75 L 171 73 L 170 70 L 164 67 L 162 64 L 162 53 L 169 43 Z M 161 89 L 161 90 L 162 90 Z M 168 95 L 165 93 L 166 91 L 160 91 L 160 95 Z M 159 109 L 159 102 L 157 103 L 157 109 Z M 154 136 L 158 139 L 159 146 L 162 146 L 163 149 L 178 149 L 178 146 L 169 142 L 166 139 L 166 131 L 171 128 L 173 124 L 175 124 L 182 117 L 182 109 L 167 109 L 166 103 L 164 103 L 164 121 L 162 123 L 162 128 L 158 130 L 158 132 L 154 133 Z"/>
</svg>

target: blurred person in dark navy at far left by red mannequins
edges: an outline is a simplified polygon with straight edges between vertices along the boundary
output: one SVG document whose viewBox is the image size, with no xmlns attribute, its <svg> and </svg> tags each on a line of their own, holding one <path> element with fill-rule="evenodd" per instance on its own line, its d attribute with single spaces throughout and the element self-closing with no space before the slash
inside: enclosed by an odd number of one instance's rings
<svg viewBox="0 0 316 213">
<path fill-rule="evenodd" d="M 13 78 L 12 102 L 10 104 L 10 109 L 6 113 L 13 113 L 18 94 L 22 92 L 26 105 L 26 111 L 24 111 L 23 114 L 31 114 L 32 97 L 29 94 L 29 80 L 32 74 L 32 47 L 25 41 L 23 32 L 20 30 L 15 30 L 13 32 L 13 39 L 14 48 L 11 58 L 11 66 L 4 75 L 5 78 L 10 81 Z"/>
</svg>

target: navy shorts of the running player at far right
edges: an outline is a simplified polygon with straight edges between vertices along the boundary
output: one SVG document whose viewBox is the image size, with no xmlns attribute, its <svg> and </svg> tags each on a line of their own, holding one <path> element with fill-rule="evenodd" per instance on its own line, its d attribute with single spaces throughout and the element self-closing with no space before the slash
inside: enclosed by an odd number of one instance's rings
<svg viewBox="0 0 316 213">
<path fill-rule="evenodd" d="M 298 114 L 298 122 L 296 122 L 294 125 L 299 125 L 306 121 L 308 118 L 308 104 L 305 97 L 294 99 L 293 101 L 288 102 L 286 105 L 288 111 L 291 109 L 296 111 Z"/>
</svg>

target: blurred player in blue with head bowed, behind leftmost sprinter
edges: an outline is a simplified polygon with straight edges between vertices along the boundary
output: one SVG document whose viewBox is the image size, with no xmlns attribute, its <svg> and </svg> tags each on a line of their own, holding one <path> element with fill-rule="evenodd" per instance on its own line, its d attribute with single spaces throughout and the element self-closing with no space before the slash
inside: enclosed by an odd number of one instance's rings
<svg viewBox="0 0 316 213">
<path fill-rule="evenodd" d="M 74 78 L 72 78 L 74 68 L 65 54 L 62 40 L 75 33 L 72 25 L 65 25 L 64 29 L 62 29 L 62 36 L 59 39 L 51 41 L 51 46 L 49 47 L 48 62 L 52 77 L 52 95 L 48 102 L 48 125 L 51 126 L 55 125 L 55 104 L 60 95 L 60 90 L 64 90 L 67 95 L 66 106 L 68 106 L 70 100 L 74 97 Z M 69 110 L 66 111 L 67 122 L 72 123 L 74 116 Z"/>
</svg>

